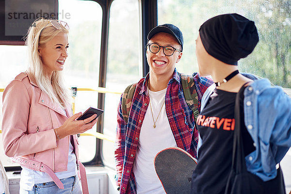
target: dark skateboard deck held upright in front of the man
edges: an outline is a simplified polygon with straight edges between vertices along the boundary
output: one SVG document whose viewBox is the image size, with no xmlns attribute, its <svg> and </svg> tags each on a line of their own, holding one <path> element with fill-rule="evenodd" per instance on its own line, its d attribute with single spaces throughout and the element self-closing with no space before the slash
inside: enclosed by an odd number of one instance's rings
<svg viewBox="0 0 291 194">
<path fill-rule="evenodd" d="M 168 147 L 154 159 L 155 170 L 167 194 L 190 194 L 197 160 L 179 147 Z"/>
</svg>

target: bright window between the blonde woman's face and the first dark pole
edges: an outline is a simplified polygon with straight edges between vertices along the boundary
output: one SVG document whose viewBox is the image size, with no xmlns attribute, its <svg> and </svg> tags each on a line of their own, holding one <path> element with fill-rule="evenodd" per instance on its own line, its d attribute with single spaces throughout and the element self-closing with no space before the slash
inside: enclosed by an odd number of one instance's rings
<svg viewBox="0 0 291 194">
<path fill-rule="evenodd" d="M 69 57 L 64 71 L 68 87 L 97 88 L 101 45 L 102 8 L 91 0 L 59 0 L 60 20 L 70 27 Z M 66 13 L 67 16 L 65 15 Z M 75 113 L 84 112 L 89 107 L 97 108 L 98 93 L 78 91 Z M 96 132 L 93 127 L 88 132 Z M 90 162 L 96 155 L 96 138 L 80 136 L 80 160 Z"/>
</svg>

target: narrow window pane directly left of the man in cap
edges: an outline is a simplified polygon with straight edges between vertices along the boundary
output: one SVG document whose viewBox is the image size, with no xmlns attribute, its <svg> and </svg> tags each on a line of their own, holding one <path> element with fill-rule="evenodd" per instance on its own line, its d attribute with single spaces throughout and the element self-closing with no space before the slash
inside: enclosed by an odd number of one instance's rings
<svg viewBox="0 0 291 194">
<path fill-rule="evenodd" d="M 106 88 L 120 92 L 138 81 L 140 72 L 139 0 L 114 0 L 110 7 Z M 106 94 L 103 133 L 115 137 L 120 95 Z M 103 162 L 114 167 L 114 144 L 103 141 Z"/>
</svg>

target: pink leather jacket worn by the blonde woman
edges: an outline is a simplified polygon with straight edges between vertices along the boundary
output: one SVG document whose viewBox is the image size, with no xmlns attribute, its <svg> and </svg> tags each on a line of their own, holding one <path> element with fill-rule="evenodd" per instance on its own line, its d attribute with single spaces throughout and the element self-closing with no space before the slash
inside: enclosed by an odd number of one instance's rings
<svg viewBox="0 0 291 194">
<path fill-rule="evenodd" d="M 57 140 L 54 129 L 61 127 L 72 116 L 70 104 L 65 112 L 40 90 L 26 72 L 16 76 L 3 92 L 2 138 L 5 154 L 32 170 L 49 174 L 60 189 L 64 186 L 54 173 L 67 170 L 69 136 Z M 67 116 L 68 115 L 68 116 Z M 73 135 L 77 166 L 84 167 L 78 158 L 78 137 Z M 80 174 L 79 174 L 80 175 Z M 85 182 L 84 182 L 85 181 Z M 86 193 L 86 188 L 83 192 Z"/>
</svg>

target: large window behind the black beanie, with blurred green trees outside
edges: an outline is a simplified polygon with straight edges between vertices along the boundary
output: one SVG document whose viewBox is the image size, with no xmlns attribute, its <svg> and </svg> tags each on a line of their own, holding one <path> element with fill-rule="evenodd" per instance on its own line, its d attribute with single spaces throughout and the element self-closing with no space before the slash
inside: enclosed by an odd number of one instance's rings
<svg viewBox="0 0 291 194">
<path fill-rule="evenodd" d="M 259 43 L 239 62 L 242 72 L 268 78 L 291 88 L 291 8 L 286 0 L 158 0 L 158 24 L 173 23 L 183 32 L 183 57 L 177 68 L 191 74 L 198 70 L 195 39 L 200 25 L 212 16 L 238 13 L 258 28 Z"/>
</svg>

